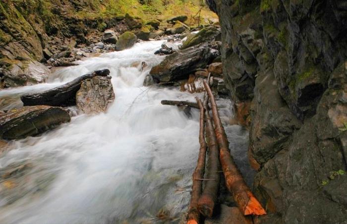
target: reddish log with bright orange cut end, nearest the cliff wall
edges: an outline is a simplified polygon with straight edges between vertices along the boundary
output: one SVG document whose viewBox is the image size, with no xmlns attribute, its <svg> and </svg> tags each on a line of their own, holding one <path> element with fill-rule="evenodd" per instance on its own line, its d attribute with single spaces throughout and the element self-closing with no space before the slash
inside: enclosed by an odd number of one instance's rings
<svg viewBox="0 0 347 224">
<path fill-rule="evenodd" d="M 231 157 L 229 151 L 229 142 L 219 117 L 215 97 L 213 96 L 210 86 L 205 80 L 204 86 L 211 102 L 213 120 L 215 123 L 215 132 L 220 148 L 220 160 L 222 163 L 227 188 L 231 192 L 243 215 L 265 215 L 265 210 L 244 182 L 240 171 Z"/>
</svg>

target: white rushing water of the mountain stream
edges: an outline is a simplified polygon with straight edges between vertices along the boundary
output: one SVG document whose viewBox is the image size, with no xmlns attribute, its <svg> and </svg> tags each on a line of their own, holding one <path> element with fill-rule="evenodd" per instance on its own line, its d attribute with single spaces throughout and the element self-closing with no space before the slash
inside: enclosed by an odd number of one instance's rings
<svg viewBox="0 0 347 224">
<path fill-rule="evenodd" d="M 164 59 L 154 55 L 162 43 L 138 43 L 61 69 L 48 83 L 0 91 L 1 109 L 11 109 L 22 105 L 21 94 L 109 69 L 116 94 L 106 113 L 75 113 L 55 130 L 9 143 L 0 155 L 1 224 L 160 223 L 158 216 L 179 222 L 190 200 L 199 112 L 192 109 L 188 118 L 160 104 L 194 101 L 190 93 L 142 86 L 150 68 Z M 136 67 L 142 61 L 149 65 L 143 71 Z M 219 104 L 227 124 L 230 101 Z M 242 164 L 247 132 L 237 125 L 226 131 Z M 7 175 L 11 169 L 16 171 Z M 248 172 L 247 165 L 241 171 Z"/>
</svg>

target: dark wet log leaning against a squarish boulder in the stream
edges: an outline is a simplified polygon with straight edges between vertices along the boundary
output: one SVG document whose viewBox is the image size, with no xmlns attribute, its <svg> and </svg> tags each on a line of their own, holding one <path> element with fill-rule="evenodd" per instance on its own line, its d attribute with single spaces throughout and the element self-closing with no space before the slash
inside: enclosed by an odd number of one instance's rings
<svg viewBox="0 0 347 224">
<path fill-rule="evenodd" d="M 22 95 L 20 99 L 24 106 L 73 106 L 76 105 L 76 93 L 81 87 L 82 80 L 93 78 L 97 75 L 108 76 L 110 75 L 110 70 L 99 70 L 92 74 L 82 75 L 70 82 L 44 92 Z"/>
</svg>

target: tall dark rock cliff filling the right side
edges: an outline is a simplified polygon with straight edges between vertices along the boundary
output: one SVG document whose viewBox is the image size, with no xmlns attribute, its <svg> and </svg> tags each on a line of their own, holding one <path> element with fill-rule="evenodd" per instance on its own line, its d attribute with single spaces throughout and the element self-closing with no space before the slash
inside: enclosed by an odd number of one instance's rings
<svg viewBox="0 0 347 224">
<path fill-rule="evenodd" d="M 260 167 L 254 190 L 268 213 L 256 223 L 345 222 L 346 4 L 207 3 L 219 16 L 235 111 L 250 108 L 243 119 Z"/>
</svg>

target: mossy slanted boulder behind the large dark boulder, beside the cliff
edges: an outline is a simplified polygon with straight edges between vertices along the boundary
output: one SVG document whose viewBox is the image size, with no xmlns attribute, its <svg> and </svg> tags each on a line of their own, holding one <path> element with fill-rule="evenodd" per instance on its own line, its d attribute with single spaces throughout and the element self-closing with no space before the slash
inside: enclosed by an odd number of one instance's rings
<svg viewBox="0 0 347 224">
<path fill-rule="evenodd" d="M 196 34 L 189 34 L 181 48 L 185 49 L 203 42 L 214 41 L 220 33 L 221 31 L 215 26 L 205 27 Z"/>
</svg>

